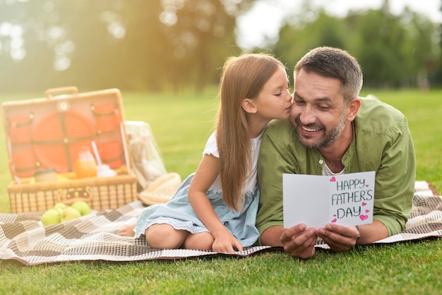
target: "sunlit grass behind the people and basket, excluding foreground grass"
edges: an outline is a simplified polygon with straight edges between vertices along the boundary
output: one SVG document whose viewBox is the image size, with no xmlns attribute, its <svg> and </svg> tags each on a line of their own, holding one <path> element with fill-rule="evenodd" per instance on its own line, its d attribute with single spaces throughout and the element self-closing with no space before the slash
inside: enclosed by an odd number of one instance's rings
<svg viewBox="0 0 442 295">
<path fill-rule="evenodd" d="M 81 90 L 80 90 L 81 91 Z M 376 95 L 403 112 L 409 121 L 417 157 L 418 180 L 430 181 L 442 191 L 442 91 L 422 92 L 364 90 L 362 95 Z M 0 95 L 0 101 L 43 97 L 43 93 Z M 162 152 L 167 171 L 182 178 L 193 172 L 215 124 L 218 106 L 217 89 L 204 93 L 122 93 L 124 119 L 145 121 Z M 3 128 L 1 128 L 3 130 Z M 0 133 L 0 212 L 8 212 L 6 187 L 11 181 L 6 156 L 4 132 Z"/>
</svg>

